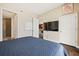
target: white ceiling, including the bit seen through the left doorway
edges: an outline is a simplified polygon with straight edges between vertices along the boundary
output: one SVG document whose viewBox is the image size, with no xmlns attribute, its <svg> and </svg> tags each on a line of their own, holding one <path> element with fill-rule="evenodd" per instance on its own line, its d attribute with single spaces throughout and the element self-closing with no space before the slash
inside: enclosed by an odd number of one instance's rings
<svg viewBox="0 0 79 59">
<path fill-rule="evenodd" d="M 62 4 L 63 3 L 3 3 L 1 5 L 11 9 L 17 9 L 19 12 L 26 13 L 27 16 L 35 16 L 41 15 L 42 13 L 54 9 Z M 11 13 L 6 14 L 11 16 Z"/>
</svg>

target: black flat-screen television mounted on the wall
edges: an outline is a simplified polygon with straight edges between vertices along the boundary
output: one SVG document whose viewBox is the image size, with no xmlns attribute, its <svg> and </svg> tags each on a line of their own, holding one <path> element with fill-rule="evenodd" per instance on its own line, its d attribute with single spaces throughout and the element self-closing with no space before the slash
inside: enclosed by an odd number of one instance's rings
<svg viewBox="0 0 79 59">
<path fill-rule="evenodd" d="M 47 30 L 47 31 L 58 31 L 59 29 L 59 21 L 52 21 L 52 22 L 47 22 L 47 23 L 44 23 L 44 30 Z"/>
</svg>

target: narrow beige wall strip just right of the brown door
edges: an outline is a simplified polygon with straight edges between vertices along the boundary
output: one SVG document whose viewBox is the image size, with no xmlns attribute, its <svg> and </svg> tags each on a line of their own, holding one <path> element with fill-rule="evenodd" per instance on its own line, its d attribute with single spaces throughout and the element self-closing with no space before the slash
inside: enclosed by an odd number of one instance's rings
<svg viewBox="0 0 79 59">
<path fill-rule="evenodd" d="M 11 30 L 11 34 L 12 34 L 12 38 L 18 38 L 18 17 L 17 14 L 15 14 L 14 16 L 11 17 L 11 26 L 12 26 L 12 30 Z"/>
</svg>

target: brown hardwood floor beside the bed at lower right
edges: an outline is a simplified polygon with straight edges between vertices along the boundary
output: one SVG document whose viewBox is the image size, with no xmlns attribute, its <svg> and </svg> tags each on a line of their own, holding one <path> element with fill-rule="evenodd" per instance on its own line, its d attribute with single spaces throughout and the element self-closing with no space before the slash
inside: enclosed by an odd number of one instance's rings
<svg viewBox="0 0 79 59">
<path fill-rule="evenodd" d="M 69 46 L 69 45 L 65 45 L 65 44 L 62 44 L 62 45 L 66 48 L 69 56 L 79 56 L 78 48 Z"/>
</svg>

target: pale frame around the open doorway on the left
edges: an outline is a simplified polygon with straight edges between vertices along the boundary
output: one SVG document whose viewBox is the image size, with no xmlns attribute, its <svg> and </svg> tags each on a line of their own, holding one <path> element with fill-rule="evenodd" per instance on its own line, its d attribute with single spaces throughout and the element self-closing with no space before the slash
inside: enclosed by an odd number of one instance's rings
<svg viewBox="0 0 79 59">
<path fill-rule="evenodd" d="M 1 15 L 2 15 L 2 24 L 3 24 L 3 10 L 6 10 L 6 9 L 1 9 Z M 13 13 L 14 15 L 12 16 L 12 17 L 10 17 L 11 18 L 11 38 L 12 39 L 15 39 L 16 38 L 16 34 L 14 34 L 15 33 L 15 31 L 14 31 L 14 29 L 16 28 L 16 20 L 18 20 L 17 19 L 17 14 L 16 13 L 14 13 L 14 12 L 11 12 L 11 11 L 9 11 L 9 10 L 6 10 L 6 12 L 10 12 L 10 13 Z M 13 24 L 13 23 L 15 23 L 15 24 Z M 14 28 L 14 25 L 16 25 L 15 26 L 15 28 Z M 4 40 L 3 39 L 3 25 L 2 25 L 2 41 Z"/>
</svg>

